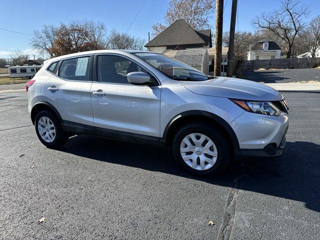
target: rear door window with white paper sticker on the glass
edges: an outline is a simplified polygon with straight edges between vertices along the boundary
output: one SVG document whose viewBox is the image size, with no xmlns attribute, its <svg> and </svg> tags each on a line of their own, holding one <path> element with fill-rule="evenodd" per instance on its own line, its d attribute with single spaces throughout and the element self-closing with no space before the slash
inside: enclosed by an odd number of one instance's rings
<svg viewBox="0 0 320 240">
<path fill-rule="evenodd" d="M 61 62 L 58 75 L 68 80 L 89 80 L 90 56 L 66 59 Z"/>
</svg>

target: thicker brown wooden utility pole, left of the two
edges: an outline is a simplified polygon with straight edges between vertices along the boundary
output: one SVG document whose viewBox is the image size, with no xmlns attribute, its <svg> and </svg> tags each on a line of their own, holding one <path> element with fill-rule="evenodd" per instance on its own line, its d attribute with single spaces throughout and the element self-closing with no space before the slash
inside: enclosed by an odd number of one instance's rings
<svg viewBox="0 0 320 240">
<path fill-rule="evenodd" d="M 222 24 L 223 24 L 223 0 L 216 0 L 215 13 L 215 55 L 213 75 L 219 76 L 221 73 L 222 55 Z"/>
</svg>

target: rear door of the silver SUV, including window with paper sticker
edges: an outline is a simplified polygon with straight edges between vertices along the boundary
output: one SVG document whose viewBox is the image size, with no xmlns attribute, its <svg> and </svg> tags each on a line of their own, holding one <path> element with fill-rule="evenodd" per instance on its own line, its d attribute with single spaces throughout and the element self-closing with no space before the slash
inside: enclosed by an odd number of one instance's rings
<svg viewBox="0 0 320 240">
<path fill-rule="evenodd" d="M 92 64 L 93 55 L 63 59 L 45 82 L 47 101 L 58 110 L 67 130 L 93 132 Z M 46 70 L 50 71 L 50 66 Z"/>
</svg>

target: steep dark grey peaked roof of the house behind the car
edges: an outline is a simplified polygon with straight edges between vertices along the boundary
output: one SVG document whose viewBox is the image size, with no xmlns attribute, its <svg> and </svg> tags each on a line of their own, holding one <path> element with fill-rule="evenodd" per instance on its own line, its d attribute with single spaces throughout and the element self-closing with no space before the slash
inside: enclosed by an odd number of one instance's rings
<svg viewBox="0 0 320 240">
<path fill-rule="evenodd" d="M 185 20 L 179 19 L 146 43 L 145 47 L 150 46 L 170 46 L 203 44 L 209 45 L 211 30 L 194 30 Z"/>
</svg>

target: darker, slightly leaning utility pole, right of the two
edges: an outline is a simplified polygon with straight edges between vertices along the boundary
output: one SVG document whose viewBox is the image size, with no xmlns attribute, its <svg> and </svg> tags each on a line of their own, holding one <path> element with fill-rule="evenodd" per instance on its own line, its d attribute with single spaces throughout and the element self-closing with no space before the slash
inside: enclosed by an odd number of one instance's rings
<svg viewBox="0 0 320 240">
<path fill-rule="evenodd" d="M 229 49 L 228 49 L 228 61 L 227 61 L 228 63 L 226 68 L 226 76 L 232 76 L 232 71 L 233 71 L 236 4 L 237 4 L 237 0 L 232 0 L 231 22 L 230 22 L 230 32 L 229 32 Z"/>
</svg>

